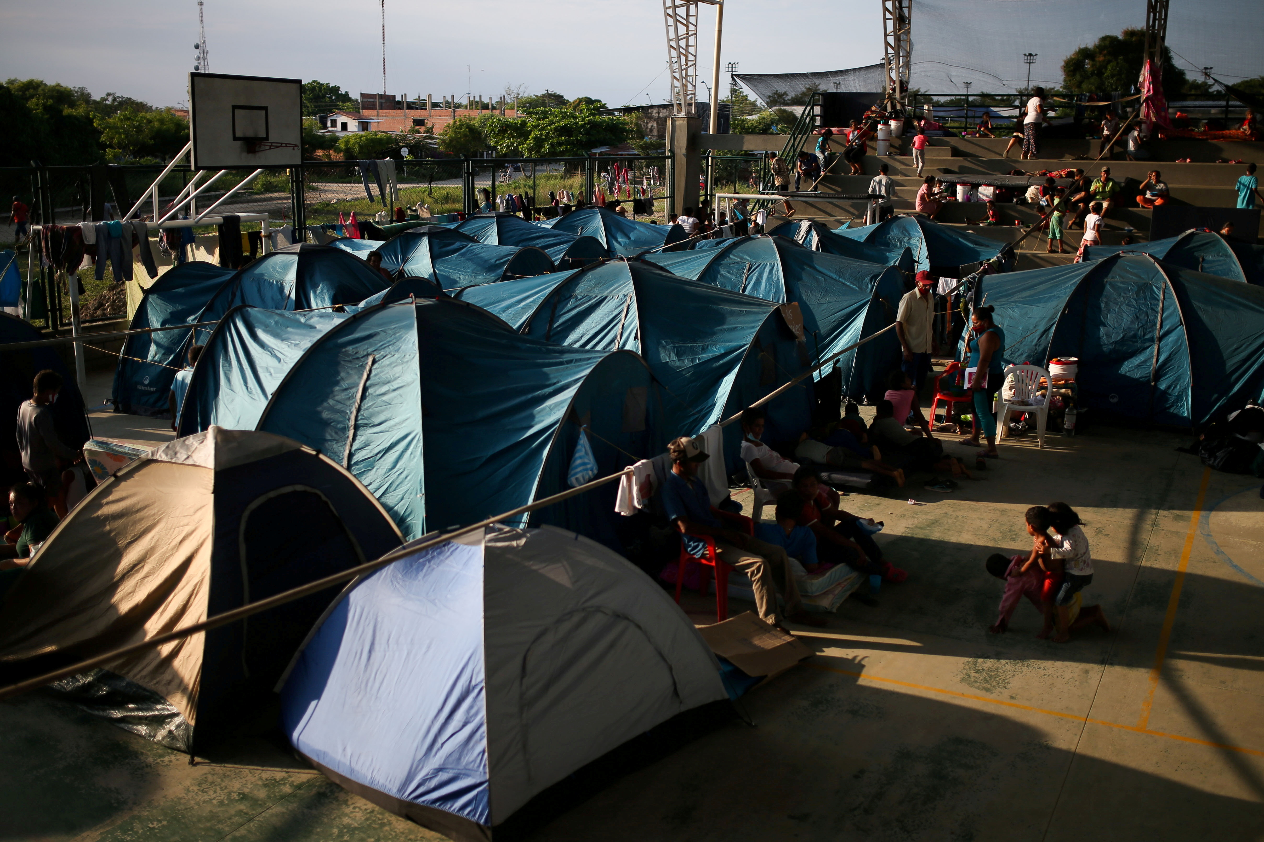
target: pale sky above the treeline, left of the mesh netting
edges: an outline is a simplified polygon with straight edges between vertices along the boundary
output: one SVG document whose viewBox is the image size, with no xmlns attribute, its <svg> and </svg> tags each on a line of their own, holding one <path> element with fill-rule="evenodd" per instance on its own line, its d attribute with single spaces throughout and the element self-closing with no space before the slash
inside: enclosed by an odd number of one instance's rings
<svg viewBox="0 0 1264 842">
<path fill-rule="evenodd" d="M 377 0 L 206 0 L 210 69 L 320 80 L 353 96 L 380 91 L 379 9 Z M 530 93 L 549 88 L 611 106 L 669 97 L 660 0 L 386 0 L 386 18 L 389 93 L 492 98 L 521 85 Z M 710 98 L 703 82 L 710 83 L 714 27 L 714 9 L 703 5 L 699 100 Z M 833 34 L 815 38 L 818 29 Z M 196 42 L 196 0 L 10 1 L 0 6 L 0 78 L 43 78 L 94 96 L 182 105 Z M 742 73 L 873 64 L 882 61 L 881 4 L 732 3 L 720 53 Z M 727 86 L 722 73 L 720 87 Z"/>
</svg>

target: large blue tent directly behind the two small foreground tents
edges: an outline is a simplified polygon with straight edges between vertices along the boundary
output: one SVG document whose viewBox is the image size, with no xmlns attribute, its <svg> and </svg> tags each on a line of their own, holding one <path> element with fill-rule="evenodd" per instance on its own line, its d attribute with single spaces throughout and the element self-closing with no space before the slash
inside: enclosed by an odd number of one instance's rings
<svg viewBox="0 0 1264 842">
<path fill-rule="evenodd" d="M 238 311 L 198 361 L 186 419 L 233 413 L 245 425 L 259 412 L 258 429 L 343 462 L 406 535 L 566 489 L 579 424 L 604 472 L 626 463 L 621 451 L 661 449 L 648 442 L 652 380 L 635 353 L 517 336 L 446 298 L 380 304 L 324 331 L 324 319 L 293 316 Z"/>
</svg>

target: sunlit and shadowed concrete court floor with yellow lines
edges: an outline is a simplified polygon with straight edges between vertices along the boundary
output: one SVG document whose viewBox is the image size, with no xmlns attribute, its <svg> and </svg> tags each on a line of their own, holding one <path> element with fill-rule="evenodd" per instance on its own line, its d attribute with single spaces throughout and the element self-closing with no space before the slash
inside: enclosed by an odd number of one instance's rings
<svg viewBox="0 0 1264 842">
<path fill-rule="evenodd" d="M 886 521 L 878 542 L 910 579 L 798 630 L 817 655 L 743 699 L 757 727 L 727 723 L 532 839 L 1264 838 L 1264 500 L 1258 480 L 1173 451 L 1187 441 L 1014 439 L 957 494 L 919 477 L 848 496 Z M 1053 500 L 1087 521 L 1086 596 L 1114 629 L 1040 641 L 1024 603 L 991 635 L 1001 583 L 982 559 L 1026 549 L 1024 509 Z M 685 603 L 696 622 L 712 606 Z M 263 741 L 190 766 L 40 694 L 0 703 L 0 839 L 442 838 Z"/>
</svg>

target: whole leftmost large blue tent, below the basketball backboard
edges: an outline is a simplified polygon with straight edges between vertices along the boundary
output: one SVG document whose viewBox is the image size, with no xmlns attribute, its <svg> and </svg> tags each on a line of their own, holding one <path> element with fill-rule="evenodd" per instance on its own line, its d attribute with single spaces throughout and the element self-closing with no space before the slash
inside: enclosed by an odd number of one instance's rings
<svg viewBox="0 0 1264 842">
<path fill-rule="evenodd" d="M 283 311 L 355 304 L 391 285 L 359 258 L 341 249 L 308 242 L 269 251 L 226 278 L 221 274 L 222 269 L 193 266 L 205 264 L 185 264 L 163 275 L 181 273 L 176 280 L 168 282 L 174 289 L 155 299 L 155 304 L 161 305 L 145 309 L 145 327 L 214 322 L 239 304 Z M 163 278 L 154 282 L 154 287 Z M 220 279 L 217 285 L 216 278 Z M 209 298 L 201 299 L 211 287 L 215 289 Z M 201 307 L 197 307 L 198 300 Z M 142 318 L 140 311 L 137 311 L 137 318 Z M 135 345 L 129 343 L 123 352 L 147 362 L 119 359 L 114 377 L 118 408 L 144 415 L 166 415 L 169 412 L 167 393 L 176 371 L 185 365 L 188 346 L 205 342 L 212 329 L 206 326 L 191 331 L 164 331 L 152 335 L 153 340 L 131 337 Z"/>
</svg>

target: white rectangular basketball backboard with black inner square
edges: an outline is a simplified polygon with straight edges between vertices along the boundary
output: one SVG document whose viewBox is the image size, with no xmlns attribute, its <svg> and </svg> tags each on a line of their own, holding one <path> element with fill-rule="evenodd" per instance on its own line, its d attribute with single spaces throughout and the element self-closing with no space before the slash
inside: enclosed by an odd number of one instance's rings
<svg viewBox="0 0 1264 842">
<path fill-rule="evenodd" d="M 193 169 L 302 164 L 302 81 L 188 74 Z"/>
</svg>

